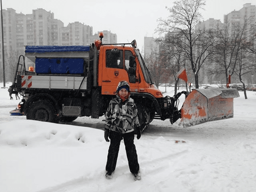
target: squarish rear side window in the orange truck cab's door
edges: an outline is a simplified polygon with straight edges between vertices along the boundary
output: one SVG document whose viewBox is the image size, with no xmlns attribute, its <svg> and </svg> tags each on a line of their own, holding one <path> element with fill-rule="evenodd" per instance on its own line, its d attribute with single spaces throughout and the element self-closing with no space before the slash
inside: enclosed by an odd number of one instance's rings
<svg viewBox="0 0 256 192">
<path fill-rule="evenodd" d="M 119 49 L 106 50 L 106 67 L 123 69 L 123 51 Z"/>
</svg>

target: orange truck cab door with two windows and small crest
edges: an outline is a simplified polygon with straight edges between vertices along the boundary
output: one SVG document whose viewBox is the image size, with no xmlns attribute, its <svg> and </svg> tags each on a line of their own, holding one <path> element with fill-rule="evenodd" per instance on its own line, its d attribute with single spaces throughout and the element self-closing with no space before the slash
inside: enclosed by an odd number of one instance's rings
<svg viewBox="0 0 256 192">
<path fill-rule="evenodd" d="M 132 92 L 138 91 L 136 63 L 131 50 L 106 48 L 102 66 L 102 94 L 114 95 L 118 83 L 129 82 Z"/>
</svg>

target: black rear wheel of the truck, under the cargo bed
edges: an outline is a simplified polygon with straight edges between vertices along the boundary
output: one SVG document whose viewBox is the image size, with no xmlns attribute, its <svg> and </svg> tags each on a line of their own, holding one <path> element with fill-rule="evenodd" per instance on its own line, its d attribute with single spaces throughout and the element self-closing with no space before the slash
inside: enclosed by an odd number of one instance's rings
<svg viewBox="0 0 256 192">
<path fill-rule="evenodd" d="M 56 122 L 56 113 L 50 102 L 36 101 L 29 107 L 26 118 L 44 122 Z"/>
</svg>

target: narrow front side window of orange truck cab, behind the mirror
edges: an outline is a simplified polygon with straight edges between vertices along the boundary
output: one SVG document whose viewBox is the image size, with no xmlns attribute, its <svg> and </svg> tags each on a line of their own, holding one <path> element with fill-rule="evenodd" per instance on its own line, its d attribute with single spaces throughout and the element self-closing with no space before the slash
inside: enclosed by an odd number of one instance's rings
<svg viewBox="0 0 256 192">
<path fill-rule="evenodd" d="M 125 70 L 128 72 L 130 83 L 136 83 L 136 62 L 132 52 L 125 50 L 124 52 Z"/>
</svg>

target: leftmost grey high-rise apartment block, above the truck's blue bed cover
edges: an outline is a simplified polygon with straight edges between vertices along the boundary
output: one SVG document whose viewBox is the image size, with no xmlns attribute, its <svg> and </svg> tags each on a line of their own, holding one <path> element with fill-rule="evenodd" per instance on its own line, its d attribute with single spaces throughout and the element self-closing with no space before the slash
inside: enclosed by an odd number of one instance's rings
<svg viewBox="0 0 256 192">
<path fill-rule="evenodd" d="M 60 44 L 58 33 L 63 22 L 54 19 L 54 14 L 44 9 L 32 12 L 25 15 L 17 14 L 12 8 L 3 10 L 4 51 L 7 57 L 10 52 L 22 54 L 24 45 Z"/>
</svg>

